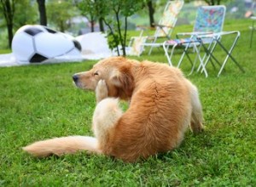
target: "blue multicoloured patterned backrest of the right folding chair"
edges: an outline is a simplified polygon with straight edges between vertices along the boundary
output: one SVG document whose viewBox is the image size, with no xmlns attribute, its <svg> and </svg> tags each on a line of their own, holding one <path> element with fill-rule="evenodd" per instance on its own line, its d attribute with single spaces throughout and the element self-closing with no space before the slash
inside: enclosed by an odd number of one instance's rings
<svg viewBox="0 0 256 187">
<path fill-rule="evenodd" d="M 225 13 L 226 8 L 224 5 L 199 7 L 194 31 L 223 31 Z"/>
</svg>

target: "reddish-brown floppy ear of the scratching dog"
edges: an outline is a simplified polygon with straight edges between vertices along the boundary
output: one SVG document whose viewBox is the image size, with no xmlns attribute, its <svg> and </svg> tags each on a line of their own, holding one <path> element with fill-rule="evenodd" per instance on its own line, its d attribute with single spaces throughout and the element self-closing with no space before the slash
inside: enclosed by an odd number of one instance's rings
<svg viewBox="0 0 256 187">
<path fill-rule="evenodd" d="M 110 82 L 118 88 L 124 88 L 124 90 L 131 92 L 133 89 L 133 77 L 128 71 L 112 71 L 110 76 Z"/>
</svg>

